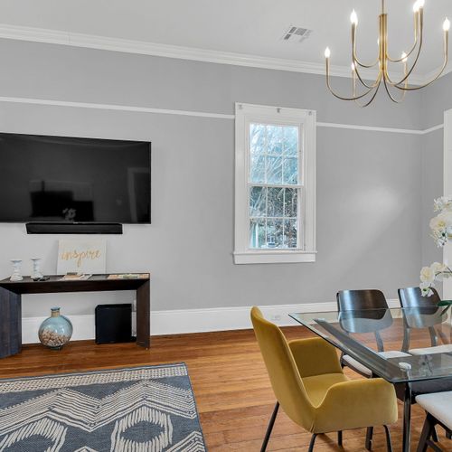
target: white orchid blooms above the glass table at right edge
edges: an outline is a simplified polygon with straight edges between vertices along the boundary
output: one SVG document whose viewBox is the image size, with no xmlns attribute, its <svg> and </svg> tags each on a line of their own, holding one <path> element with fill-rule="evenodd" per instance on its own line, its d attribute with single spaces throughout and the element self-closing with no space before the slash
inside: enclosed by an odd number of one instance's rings
<svg viewBox="0 0 452 452">
<path fill-rule="evenodd" d="M 433 240 L 438 247 L 444 247 L 449 239 L 452 239 L 452 196 L 441 196 L 434 202 L 434 211 L 438 215 L 431 219 L 430 229 Z M 442 281 L 443 278 L 451 278 L 452 270 L 446 264 L 434 262 L 430 267 L 423 267 L 420 270 L 420 290 L 424 297 L 432 294 L 431 288 L 435 286 L 435 281 Z"/>
</svg>

